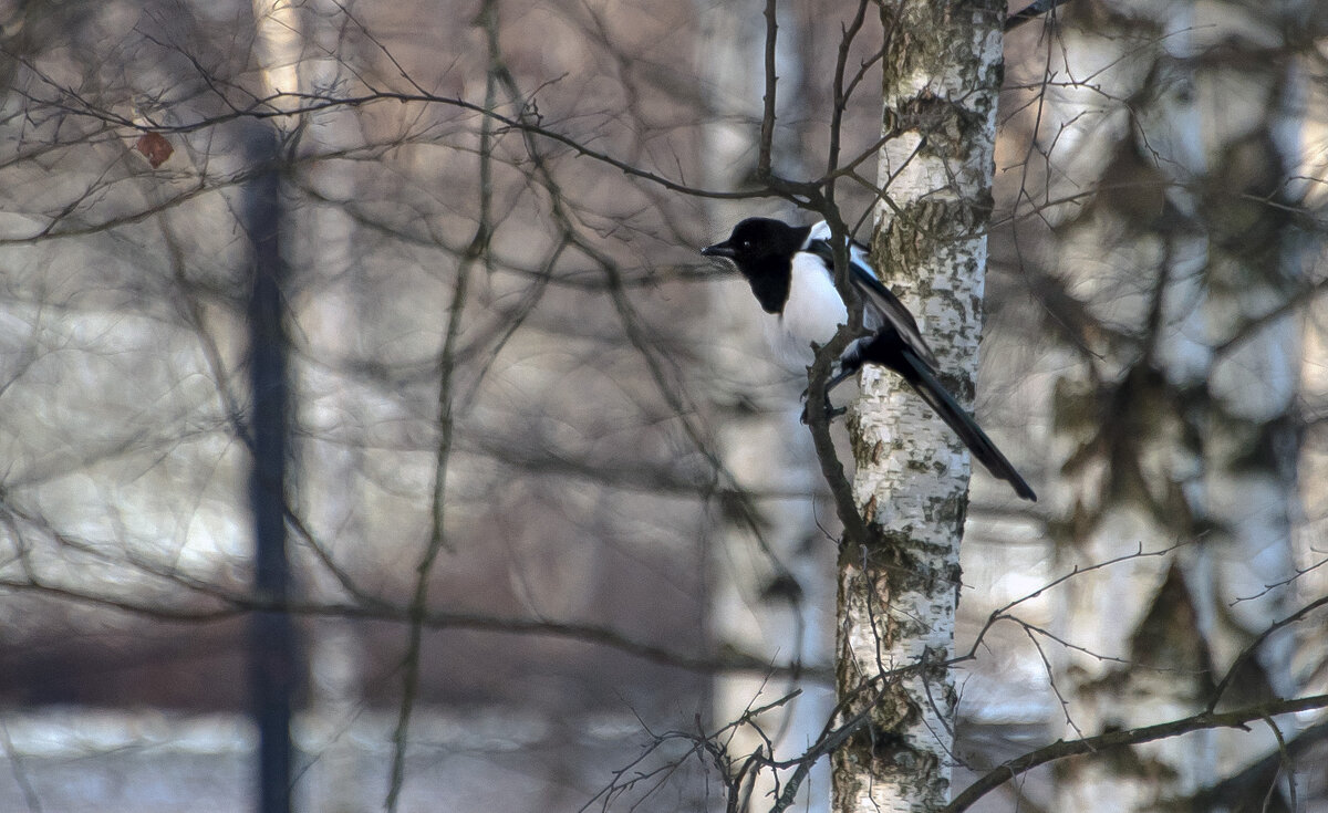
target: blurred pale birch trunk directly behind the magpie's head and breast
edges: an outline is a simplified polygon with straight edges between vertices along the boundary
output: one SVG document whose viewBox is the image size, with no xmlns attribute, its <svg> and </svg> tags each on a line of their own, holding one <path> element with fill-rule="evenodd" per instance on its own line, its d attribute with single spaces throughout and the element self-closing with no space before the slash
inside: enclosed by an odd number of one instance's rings
<svg viewBox="0 0 1328 813">
<path fill-rule="evenodd" d="M 756 169 L 766 88 L 764 74 L 753 70 L 753 65 L 764 64 L 768 46 L 764 7 L 762 0 L 697 7 L 700 31 L 706 37 L 700 53 L 706 58 L 703 70 L 709 106 L 703 154 L 708 185 L 714 189 L 742 189 Z M 782 16 L 780 23 L 777 142 L 795 126 L 785 126 L 782 113 L 797 109 L 801 84 L 795 77 L 802 69 L 799 32 L 795 25 L 785 25 Z M 795 159 L 799 150 L 795 142 L 785 143 L 776 149 L 776 155 Z M 778 167 L 793 177 L 799 169 Z M 752 201 L 710 202 L 712 236 L 718 239 L 753 214 L 760 213 L 753 211 Z M 821 476 L 794 400 L 805 377 L 801 371 L 765 361 L 769 353 L 762 347 L 761 323 L 768 316 L 756 306 L 746 283 L 734 276 L 720 288 L 713 308 L 716 315 L 709 323 L 721 327 L 708 348 L 716 371 L 712 400 L 725 413 L 718 429 L 724 461 L 744 488 L 780 497 L 756 502 L 764 519 L 761 541 L 732 514 L 721 526 L 722 538 L 708 554 L 713 574 L 712 636 L 721 647 L 770 663 L 798 660 L 822 666 L 830 660 L 826 608 L 833 595 L 834 546 L 817 522 Z M 721 676 L 714 681 L 714 720 L 718 724 L 738 720 L 749 708 L 766 705 L 797 688 L 802 689 L 801 696 L 754 720 L 770 737 L 778 759 L 789 759 L 815 741 L 825 725 L 833 707 L 826 688 L 760 675 Z M 728 748 L 740 761 L 766 749 L 764 737 L 752 727 L 737 731 Z M 745 788 L 744 804 L 764 802 L 773 788 L 774 777 L 762 772 Z M 827 809 L 827 772 L 814 770 L 802 793 L 798 809 L 813 813 Z"/>
</svg>

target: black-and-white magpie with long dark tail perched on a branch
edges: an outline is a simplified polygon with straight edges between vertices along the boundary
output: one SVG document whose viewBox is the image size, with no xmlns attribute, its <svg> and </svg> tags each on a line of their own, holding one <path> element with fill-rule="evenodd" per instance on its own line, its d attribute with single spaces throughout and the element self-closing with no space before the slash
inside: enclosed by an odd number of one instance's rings
<svg viewBox="0 0 1328 813">
<path fill-rule="evenodd" d="M 733 227 L 729 239 L 706 246 L 701 254 L 737 266 L 761 308 L 776 317 L 777 343 L 791 341 L 805 351 L 811 343 L 830 341 L 839 325 L 849 321 L 849 308 L 834 284 L 834 248 L 825 221 L 814 226 L 789 226 L 772 218 L 748 218 Z M 912 314 L 876 276 L 866 246 L 850 240 L 849 259 L 849 282 L 862 302 L 867 332 L 839 356 L 839 371 L 827 383 L 826 393 L 863 364 L 894 371 L 995 477 L 1009 482 L 1024 499 L 1036 502 L 1033 489 L 938 380 L 936 356 L 922 337 Z"/>
</svg>

